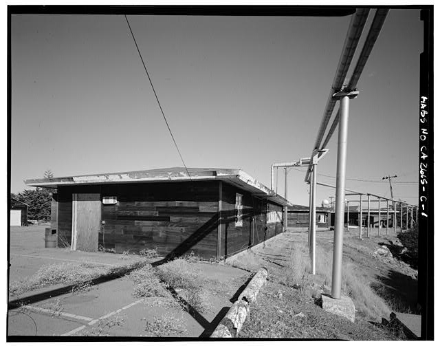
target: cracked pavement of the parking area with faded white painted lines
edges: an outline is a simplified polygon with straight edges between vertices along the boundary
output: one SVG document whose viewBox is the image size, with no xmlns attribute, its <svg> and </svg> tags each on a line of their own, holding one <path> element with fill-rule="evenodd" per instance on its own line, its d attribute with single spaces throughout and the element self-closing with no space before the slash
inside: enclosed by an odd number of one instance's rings
<svg viewBox="0 0 440 346">
<path fill-rule="evenodd" d="M 16 232 L 16 233 L 14 233 Z M 44 227 L 11 230 L 10 280 L 30 277 L 42 265 L 63 262 L 120 266 L 143 259 L 135 255 L 77 252 L 44 248 Z M 151 259 L 157 261 L 157 259 Z M 52 285 L 10 301 L 8 336 L 174 336 L 208 338 L 243 290 L 250 273 L 220 263 L 188 263 L 206 278 L 203 309 L 182 310 L 176 297 L 133 296 L 129 277 L 104 280 L 87 290 L 72 292 Z M 25 299 L 27 298 L 27 299 Z M 19 339 L 11 339 L 19 340 Z"/>
</svg>

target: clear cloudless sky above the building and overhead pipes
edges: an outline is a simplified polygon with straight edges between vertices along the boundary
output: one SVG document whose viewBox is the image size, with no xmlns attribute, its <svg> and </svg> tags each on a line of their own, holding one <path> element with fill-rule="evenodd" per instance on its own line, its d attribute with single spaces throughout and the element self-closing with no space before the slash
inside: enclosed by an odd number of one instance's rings
<svg viewBox="0 0 440 346">
<path fill-rule="evenodd" d="M 272 163 L 311 154 L 350 19 L 129 17 L 186 165 L 241 168 L 267 186 Z M 390 197 L 382 177 L 397 175 L 395 198 L 417 203 L 422 49 L 419 10 L 392 9 L 350 103 L 347 188 Z M 123 16 L 13 15 L 11 54 L 11 192 L 47 169 L 182 166 Z M 337 134 L 320 182 L 335 183 Z M 307 205 L 300 170 L 288 197 Z M 318 186 L 318 203 L 330 196 Z"/>
</svg>

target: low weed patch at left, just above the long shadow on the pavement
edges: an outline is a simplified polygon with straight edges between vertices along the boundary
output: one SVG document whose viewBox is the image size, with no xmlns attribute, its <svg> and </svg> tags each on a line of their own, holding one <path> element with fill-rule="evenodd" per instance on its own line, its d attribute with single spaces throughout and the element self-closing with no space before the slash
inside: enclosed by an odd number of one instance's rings
<svg viewBox="0 0 440 346">
<path fill-rule="evenodd" d="M 32 277 L 13 281 L 9 292 L 18 296 L 25 292 L 36 290 L 50 285 L 75 285 L 75 290 L 84 290 L 90 281 L 104 276 L 122 276 L 131 270 L 144 266 L 145 261 L 135 261 L 123 266 L 102 266 L 89 263 L 56 263 L 42 266 Z"/>
</svg>

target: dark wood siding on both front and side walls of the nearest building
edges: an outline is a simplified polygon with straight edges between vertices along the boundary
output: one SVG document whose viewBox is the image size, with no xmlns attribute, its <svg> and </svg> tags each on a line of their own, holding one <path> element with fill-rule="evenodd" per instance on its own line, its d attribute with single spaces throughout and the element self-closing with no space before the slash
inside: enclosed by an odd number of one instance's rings
<svg viewBox="0 0 440 346">
<path fill-rule="evenodd" d="M 164 257 L 190 252 L 204 259 L 229 257 L 283 232 L 281 220 L 267 222 L 267 212 L 282 217 L 282 206 L 225 182 L 221 185 L 220 227 L 219 182 L 62 186 L 58 188 L 58 246 L 71 244 L 73 193 L 99 193 L 101 201 L 116 197 L 117 204 L 102 204 L 104 224 L 98 235 L 98 244 L 115 252 L 157 248 Z M 235 225 L 236 193 L 243 195 L 242 226 Z"/>
</svg>

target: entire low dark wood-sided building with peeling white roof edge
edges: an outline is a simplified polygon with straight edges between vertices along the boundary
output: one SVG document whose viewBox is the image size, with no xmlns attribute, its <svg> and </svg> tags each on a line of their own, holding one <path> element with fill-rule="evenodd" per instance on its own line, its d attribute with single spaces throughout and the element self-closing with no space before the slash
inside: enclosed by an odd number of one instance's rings
<svg viewBox="0 0 440 346">
<path fill-rule="evenodd" d="M 27 180 L 56 188 L 58 247 L 226 258 L 283 232 L 291 206 L 241 169 L 151 169 Z"/>
</svg>

